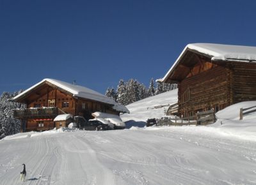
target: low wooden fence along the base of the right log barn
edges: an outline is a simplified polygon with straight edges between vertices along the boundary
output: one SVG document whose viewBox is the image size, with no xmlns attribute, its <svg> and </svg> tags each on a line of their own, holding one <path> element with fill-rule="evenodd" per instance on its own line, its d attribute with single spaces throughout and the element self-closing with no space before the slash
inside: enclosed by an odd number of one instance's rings
<svg viewBox="0 0 256 185">
<path fill-rule="evenodd" d="M 192 117 L 162 117 L 161 119 L 156 120 L 157 126 L 182 126 L 182 125 L 206 125 L 211 124 L 216 121 L 214 110 L 209 110 L 206 112 L 198 112 L 195 116 Z"/>
</svg>

